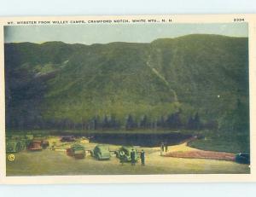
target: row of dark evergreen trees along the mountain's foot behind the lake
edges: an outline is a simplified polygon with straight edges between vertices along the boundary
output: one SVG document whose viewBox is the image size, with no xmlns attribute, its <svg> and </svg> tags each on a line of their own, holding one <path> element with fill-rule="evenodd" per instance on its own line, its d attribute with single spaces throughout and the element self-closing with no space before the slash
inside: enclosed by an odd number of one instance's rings
<svg viewBox="0 0 256 197">
<path fill-rule="evenodd" d="M 157 129 L 217 129 L 216 121 L 202 123 L 199 113 L 189 116 L 187 121 L 182 121 L 181 113 L 171 113 L 167 117 L 161 116 L 159 119 L 150 119 L 143 115 L 141 119 L 136 119 L 132 114 L 128 114 L 125 121 L 121 122 L 114 115 L 104 116 L 102 119 L 95 116 L 90 120 L 81 118 L 78 122 L 71 119 L 24 119 L 23 122 L 15 122 L 8 125 L 13 129 L 63 129 L 63 130 L 157 130 Z"/>
</svg>

